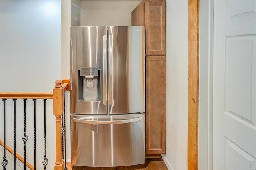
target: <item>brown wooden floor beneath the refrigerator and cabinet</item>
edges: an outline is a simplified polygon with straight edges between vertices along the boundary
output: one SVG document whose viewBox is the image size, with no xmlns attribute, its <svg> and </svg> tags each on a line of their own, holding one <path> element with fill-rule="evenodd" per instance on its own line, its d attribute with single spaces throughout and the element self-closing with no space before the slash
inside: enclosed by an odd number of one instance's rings
<svg viewBox="0 0 256 170">
<path fill-rule="evenodd" d="M 120 167 L 83 167 L 73 166 L 72 170 L 168 170 L 161 158 L 145 159 L 145 164 Z"/>
</svg>

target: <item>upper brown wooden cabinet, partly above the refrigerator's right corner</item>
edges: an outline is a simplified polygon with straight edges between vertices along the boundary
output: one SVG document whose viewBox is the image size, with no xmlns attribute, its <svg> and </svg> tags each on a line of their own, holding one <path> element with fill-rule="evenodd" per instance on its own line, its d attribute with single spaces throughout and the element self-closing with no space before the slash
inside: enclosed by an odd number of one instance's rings
<svg viewBox="0 0 256 170">
<path fill-rule="evenodd" d="M 165 4 L 165 1 L 142 1 L 132 11 L 132 25 L 145 26 L 146 55 L 166 54 Z"/>
</svg>

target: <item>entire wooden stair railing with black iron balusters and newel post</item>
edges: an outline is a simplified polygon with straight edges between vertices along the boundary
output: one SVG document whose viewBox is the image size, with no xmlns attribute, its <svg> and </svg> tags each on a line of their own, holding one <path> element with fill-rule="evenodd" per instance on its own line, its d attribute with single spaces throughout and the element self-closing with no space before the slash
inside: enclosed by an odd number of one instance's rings
<svg viewBox="0 0 256 170">
<path fill-rule="evenodd" d="M 4 148 L 3 152 L 3 161 L 1 163 L 1 166 L 3 167 L 3 170 L 6 170 L 6 166 L 8 165 L 8 160 L 6 159 L 6 150 L 13 154 L 13 169 L 16 169 L 16 158 L 20 160 L 22 163 L 24 163 L 24 170 L 26 170 L 26 167 L 30 168 L 31 170 L 36 170 L 36 103 L 39 100 L 42 100 L 44 103 L 44 160 L 43 160 L 43 166 L 44 170 L 47 168 L 48 164 L 48 158 L 46 155 L 46 101 L 48 99 L 53 99 L 53 114 L 56 116 L 56 160 L 54 165 L 54 170 L 67 170 L 66 167 L 66 160 L 64 164 L 64 159 L 66 159 L 66 120 L 65 120 L 65 91 L 69 90 L 70 87 L 70 81 L 68 79 L 64 80 L 56 80 L 55 87 L 53 89 L 53 93 L 40 93 L 40 92 L 0 92 L 0 99 L 2 99 L 3 102 L 3 109 L 0 110 L 0 112 L 3 112 L 3 141 L 0 140 L 0 144 Z M 13 103 L 13 120 L 6 120 L 6 100 L 12 100 Z M 23 108 L 24 109 L 24 136 L 22 138 L 22 141 L 24 142 L 24 155 L 23 157 L 16 153 L 16 101 L 17 100 L 23 100 Z M 27 147 L 27 106 L 26 102 L 27 100 L 32 100 L 34 103 L 34 165 L 31 165 L 27 162 L 27 153 L 26 153 L 26 147 Z M 64 115 L 63 115 L 64 112 Z M 64 119 L 63 119 L 64 118 Z M 0 118 L 2 120 L 2 117 Z M 6 121 L 13 121 L 14 124 L 14 143 L 13 143 L 13 149 L 10 148 L 6 144 Z M 8 127 L 10 128 L 10 127 Z M 1 129 L 2 131 L 2 129 Z M 8 165 L 11 167 L 12 165 Z M 34 167 L 33 167 L 34 166 Z M 8 168 L 10 169 L 10 168 Z M 52 168 L 50 168 L 52 169 Z"/>
</svg>

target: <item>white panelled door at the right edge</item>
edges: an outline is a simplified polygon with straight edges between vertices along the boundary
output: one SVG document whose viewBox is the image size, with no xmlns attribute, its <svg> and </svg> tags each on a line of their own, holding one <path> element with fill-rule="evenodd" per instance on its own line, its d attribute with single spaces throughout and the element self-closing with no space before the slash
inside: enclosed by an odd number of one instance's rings
<svg viewBox="0 0 256 170">
<path fill-rule="evenodd" d="M 214 1 L 213 169 L 256 170 L 256 0 Z"/>
</svg>

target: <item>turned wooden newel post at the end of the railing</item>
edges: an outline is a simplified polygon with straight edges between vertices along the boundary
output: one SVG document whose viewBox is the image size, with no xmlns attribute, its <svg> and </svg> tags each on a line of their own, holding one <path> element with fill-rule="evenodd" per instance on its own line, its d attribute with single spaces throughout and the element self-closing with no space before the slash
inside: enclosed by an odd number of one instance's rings
<svg viewBox="0 0 256 170">
<path fill-rule="evenodd" d="M 54 170 L 64 170 L 64 161 L 62 159 L 62 136 L 61 136 L 61 116 L 64 110 L 63 93 L 64 88 L 61 80 L 55 81 L 53 89 L 53 114 L 56 117 L 56 160 Z"/>
</svg>

